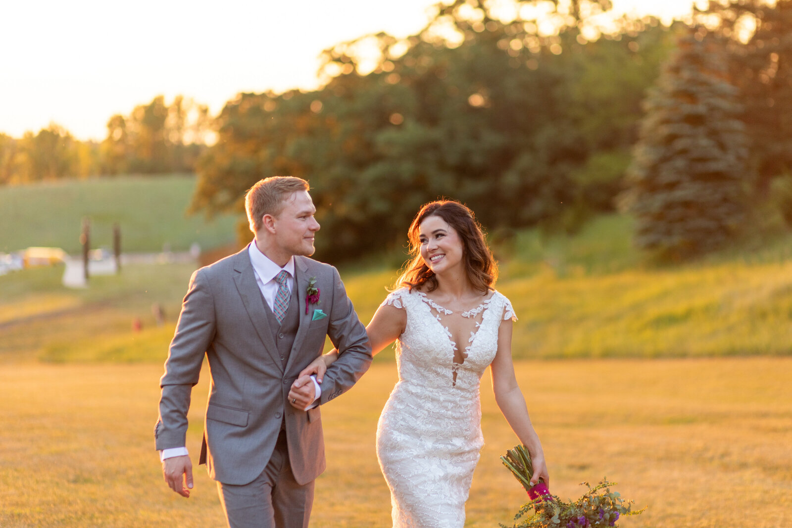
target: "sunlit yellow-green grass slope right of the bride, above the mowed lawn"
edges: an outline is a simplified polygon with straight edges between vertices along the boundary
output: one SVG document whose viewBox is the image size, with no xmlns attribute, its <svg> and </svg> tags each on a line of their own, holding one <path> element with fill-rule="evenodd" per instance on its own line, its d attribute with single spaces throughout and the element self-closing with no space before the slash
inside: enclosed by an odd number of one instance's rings
<svg viewBox="0 0 792 528">
<path fill-rule="evenodd" d="M 788 355 L 792 263 L 720 264 L 501 285 L 520 357 Z"/>
</svg>

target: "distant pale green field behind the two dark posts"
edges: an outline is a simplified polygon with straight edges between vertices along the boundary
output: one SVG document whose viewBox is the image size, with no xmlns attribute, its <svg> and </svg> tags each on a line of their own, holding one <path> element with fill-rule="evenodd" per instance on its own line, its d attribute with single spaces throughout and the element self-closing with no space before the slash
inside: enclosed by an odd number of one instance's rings
<svg viewBox="0 0 792 528">
<path fill-rule="evenodd" d="M 112 248 L 112 226 L 121 229 L 124 251 L 185 251 L 234 241 L 236 217 L 211 222 L 185 216 L 196 179 L 172 175 L 108 177 L 0 187 L 0 252 L 29 246 L 80 251 L 83 217 L 91 220 L 91 246 Z"/>
</svg>

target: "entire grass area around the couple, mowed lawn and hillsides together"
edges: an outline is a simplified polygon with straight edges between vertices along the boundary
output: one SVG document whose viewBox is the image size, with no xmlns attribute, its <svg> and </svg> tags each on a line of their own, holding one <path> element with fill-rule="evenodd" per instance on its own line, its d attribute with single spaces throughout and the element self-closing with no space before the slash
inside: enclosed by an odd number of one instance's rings
<svg viewBox="0 0 792 528">
<path fill-rule="evenodd" d="M 146 201 L 158 186 L 162 203 Z M 126 177 L 2 188 L 0 251 L 73 251 L 72 224 L 93 215 L 99 240 L 118 221 L 103 216 L 109 211 L 140 226 L 135 247 L 122 222 L 128 250 L 166 241 L 186 249 L 193 234 L 206 235 L 206 247 L 225 243 L 230 218 L 211 230 L 189 223 L 196 219 L 176 227 L 191 186 L 184 177 Z M 76 207 L 79 188 L 101 199 Z M 581 481 L 619 482 L 619 492 L 649 507 L 621 526 L 792 526 L 792 236 L 660 266 L 636 253 L 629 235 L 629 219 L 614 215 L 573 237 L 527 230 L 495 246 L 497 287 L 520 317 L 514 355 L 552 491 L 577 497 Z M 376 261 L 341 266 L 364 321 L 395 277 Z M 84 290 L 61 285 L 63 268 L 0 276 L 0 526 L 223 526 L 204 469 L 196 469 L 189 500 L 169 492 L 152 439 L 157 382 L 194 268 L 131 264 L 92 277 Z M 165 325 L 156 325 L 154 305 Z M 390 526 L 374 439 L 396 378 L 392 357 L 379 355 L 358 386 L 322 411 L 329 467 L 318 481 L 314 528 Z M 193 455 L 207 374 L 190 410 Z M 488 378 L 482 410 L 487 443 L 467 526 L 507 523 L 524 501 L 499 461 L 516 439 Z"/>
</svg>

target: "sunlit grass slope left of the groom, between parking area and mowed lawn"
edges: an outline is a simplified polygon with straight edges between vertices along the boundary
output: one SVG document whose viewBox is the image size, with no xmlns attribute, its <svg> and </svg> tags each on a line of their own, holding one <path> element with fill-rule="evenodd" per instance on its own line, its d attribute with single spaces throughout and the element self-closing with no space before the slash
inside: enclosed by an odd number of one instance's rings
<svg viewBox="0 0 792 528">
<path fill-rule="evenodd" d="M 0 314 L 6 317 L 0 321 L 0 363 L 36 358 L 162 363 L 194 268 L 135 264 L 120 275 L 92 277 L 89 288 L 78 290 L 61 285 L 63 268 L 0 276 Z M 166 315 L 162 327 L 152 313 L 154 305 Z M 133 330 L 135 320 L 141 332 Z"/>
</svg>

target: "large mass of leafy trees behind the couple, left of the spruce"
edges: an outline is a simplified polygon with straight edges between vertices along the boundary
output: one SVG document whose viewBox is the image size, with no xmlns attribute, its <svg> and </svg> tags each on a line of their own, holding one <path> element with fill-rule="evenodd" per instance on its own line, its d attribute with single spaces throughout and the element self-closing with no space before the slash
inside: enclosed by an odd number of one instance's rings
<svg viewBox="0 0 792 528">
<path fill-rule="evenodd" d="M 490 230 L 574 228 L 613 207 L 642 97 L 673 45 L 657 21 L 622 20 L 588 40 L 581 12 L 603 8 L 574 2 L 502 21 L 460 0 L 407 40 L 338 44 L 324 53 L 322 89 L 227 103 L 192 210 L 242 211 L 261 177 L 306 178 L 328 259 L 403 244 L 418 207 L 440 196 Z M 366 46 L 378 51 L 373 65 L 360 59 Z"/>
</svg>

